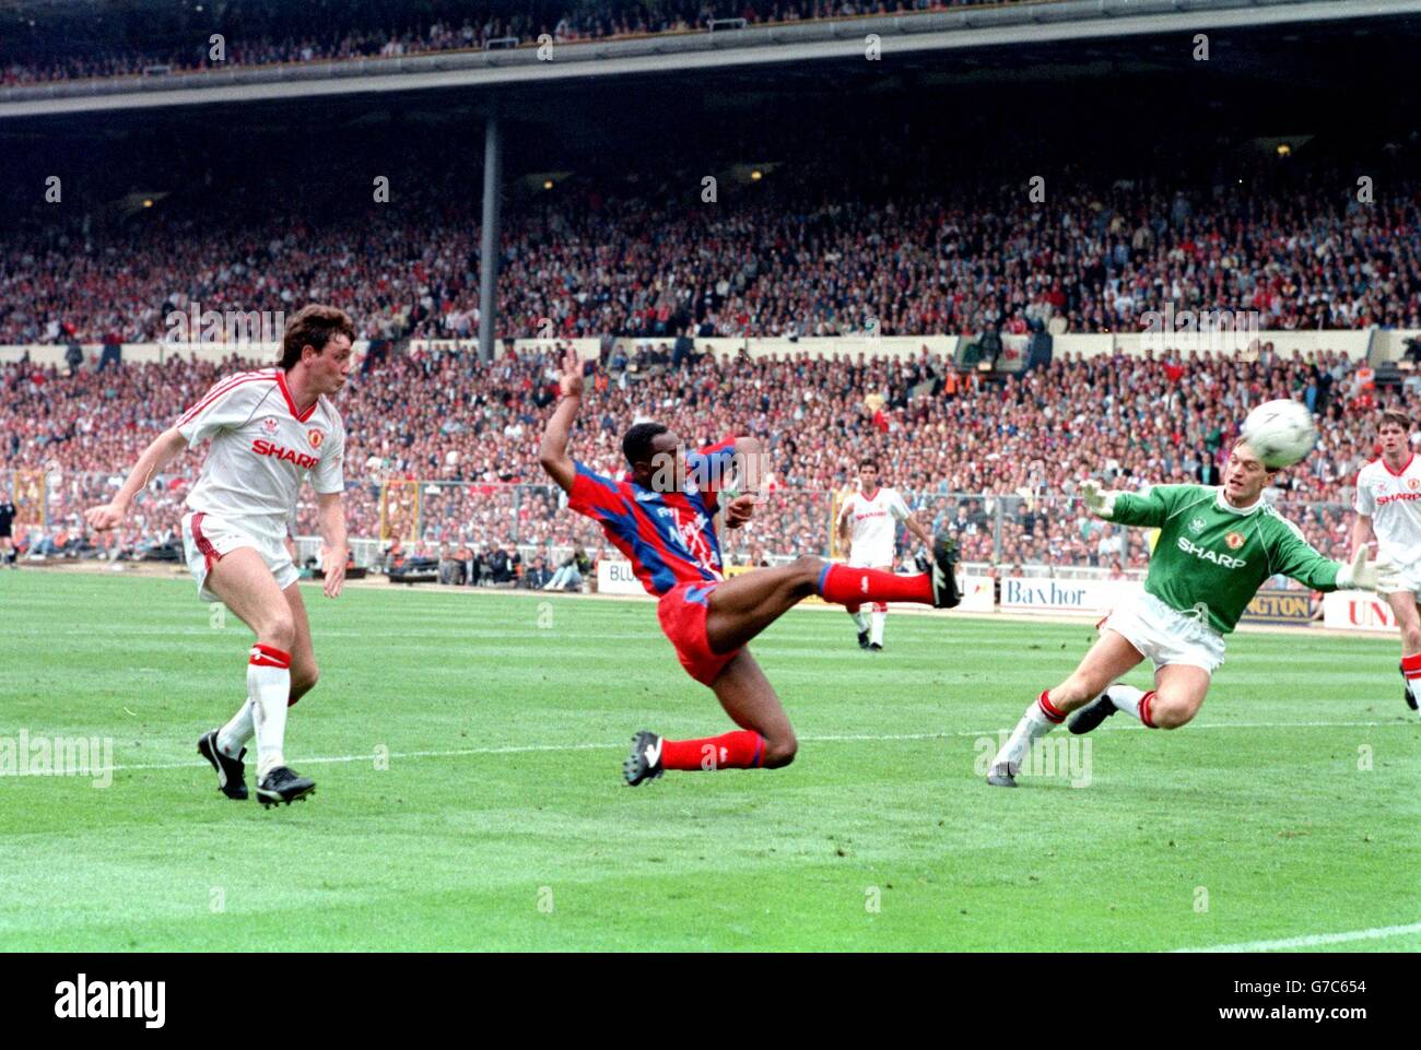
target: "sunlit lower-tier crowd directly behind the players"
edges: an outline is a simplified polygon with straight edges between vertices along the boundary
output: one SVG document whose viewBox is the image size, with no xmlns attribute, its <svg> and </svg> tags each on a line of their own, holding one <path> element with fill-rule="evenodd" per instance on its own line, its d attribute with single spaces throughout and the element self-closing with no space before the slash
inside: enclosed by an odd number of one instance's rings
<svg viewBox="0 0 1421 1050">
<path fill-rule="evenodd" d="M 904 359 L 672 358 L 659 347 L 607 355 L 588 379 L 594 389 L 574 455 L 618 473 L 621 433 L 638 419 L 662 421 L 696 446 L 729 433 L 764 438 L 766 497 L 747 527 L 725 536 L 737 563 L 827 553 L 834 493 L 853 483 L 860 459 L 872 458 L 929 527 L 956 529 L 969 561 L 1140 568 L 1144 534 L 1091 520 L 1073 499 L 1077 485 L 1087 476 L 1124 489 L 1216 483 L 1239 421 L 1279 396 L 1317 412 L 1322 443 L 1279 476 L 1270 499 L 1309 541 L 1340 556 L 1351 485 L 1373 458 L 1376 409 L 1400 404 L 1346 354 L 1282 357 L 1270 344 L 1253 361 L 1070 355 L 1005 378 L 958 372 L 926 351 Z M 487 364 L 460 351 L 371 361 L 340 399 L 351 534 L 405 534 L 415 540 L 412 554 L 429 557 L 441 546 L 522 547 L 530 563 L 547 565 L 574 543 L 603 550 L 591 523 L 560 510 L 561 493 L 537 465 L 557 361 L 558 351 Z M 21 521 L 36 519 L 44 483 L 48 529 L 30 536 L 31 550 L 98 544 L 132 554 L 171 540 L 198 453 L 149 486 L 121 536 L 87 537 L 78 514 L 104 502 L 142 448 L 219 375 L 242 367 L 234 358 L 217 365 L 175 357 L 72 375 L 0 368 L 0 449 L 18 472 L 7 480 Z M 297 534 L 314 531 L 311 512 L 300 509 Z"/>
</svg>

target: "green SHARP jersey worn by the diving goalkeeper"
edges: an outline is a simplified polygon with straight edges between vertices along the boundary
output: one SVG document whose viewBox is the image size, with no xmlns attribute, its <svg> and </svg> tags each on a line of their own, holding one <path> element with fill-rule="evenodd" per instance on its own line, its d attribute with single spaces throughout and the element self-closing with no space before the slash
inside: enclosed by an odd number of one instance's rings
<svg viewBox="0 0 1421 1050">
<path fill-rule="evenodd" d="M 1316 591 L 1337 590 L 1341 565 L 1313 550 L 1297 526 L 1263 500 L 1236 510 L 1223 502 L 1222 489 L 1157 485 L 1117 493 L 1108 520 L 1158 527 L 1145 591 L 1179 612 L 1206 611 L 1209 625 L 1223 634 L 1279 573 Z"/>
</svg>

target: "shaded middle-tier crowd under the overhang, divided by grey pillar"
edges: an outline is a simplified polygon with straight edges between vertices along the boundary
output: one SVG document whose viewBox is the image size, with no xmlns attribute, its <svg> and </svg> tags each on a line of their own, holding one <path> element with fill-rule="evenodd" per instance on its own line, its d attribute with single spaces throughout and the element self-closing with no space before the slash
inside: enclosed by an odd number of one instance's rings
<svg viewBox="0 0 1421 1050">
<path fill-rule="evenodd" d="M 1037 205 L 980 180 L 874 197 L 836 196 L 821 179 L 776 173 L 779 185 L 715 206 L 693 203 L 689 176 L 681 197 L 580 183 L 517 196 L 500 334 L 1138 331 L 1169 304 L 1259 328 L 1421 327 L 1414 182 L 1360 205 L 1322 185 L 1279 202 L 1265 186 L 1080 180 Z M 0 232 L 0 344 L 155 341 L 192 303 L 281 311 L 308 298 L 372 338 L 475 334 L 472 195 L 395 192 L 398 206 L 367 196 L 318 222 L 271 207 L 260 186 L 234 189 L 216 215 L 173 203 L 111 226 L 16 223 Z"/>
</svg>

